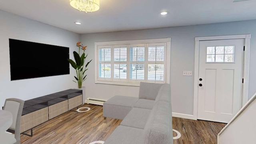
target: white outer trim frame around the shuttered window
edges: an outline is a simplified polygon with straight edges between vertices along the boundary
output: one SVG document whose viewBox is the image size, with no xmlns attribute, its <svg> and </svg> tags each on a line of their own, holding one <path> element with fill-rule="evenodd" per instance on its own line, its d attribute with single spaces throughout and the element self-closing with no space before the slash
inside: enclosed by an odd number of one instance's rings
<svg viewBox="0 0 256 144">
<path fill-rule="evenodd" d="M 158 39 L 145 39 L 145 40 L 123 40 L 123 41 L 111 41 L 111 42 L 95 42 L 95 83 L 96 84 L 113 84 L 113 85 L 124 85 L 124 86 L 140 86 L 140 83 L 132 82 L 118 82 L 118 81 L 101 81 L 98 79 L 98 46 L 106 45 L 129 45 L 129 44 L 150 44 L 150 43 L 166 43 L 166 62 L 165 62 L 165 81 L 164 83 L 170 84 L 170 57 L 171 57 L 171 38 L 158 38 Z M 127 52 L 128 54 L 129 52 Z M 111 63 L 113 63 L 111 61 Z M 128 75 L 128 73 L 127 73 Z M 145 72 L 146 75 L 146 72 Z M 127 76 L 127 78 L 129 78 Z M 145 79 L 146 81 L 146 79 Z"/>
</svg>

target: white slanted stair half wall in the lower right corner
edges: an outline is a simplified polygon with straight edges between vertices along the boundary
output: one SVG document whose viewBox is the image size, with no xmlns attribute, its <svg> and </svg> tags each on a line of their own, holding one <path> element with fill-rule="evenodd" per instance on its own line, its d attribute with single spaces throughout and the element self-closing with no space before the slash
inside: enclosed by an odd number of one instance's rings
<svg viewBox="0 0 256 144">
<path fill-rule="evenodd" d="M 256 93 L 218 134 L 218 144 L 255 144 Z"/>
</svg>

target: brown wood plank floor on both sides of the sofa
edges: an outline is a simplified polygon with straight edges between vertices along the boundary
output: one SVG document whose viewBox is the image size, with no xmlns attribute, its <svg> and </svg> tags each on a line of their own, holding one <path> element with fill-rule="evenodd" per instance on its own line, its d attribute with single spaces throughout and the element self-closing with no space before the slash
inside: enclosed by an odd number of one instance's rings
<svg viewBox="0 0 256 144">
<path fill-rule="evenodd" d="M 98 140 L 105 141 L 122 121 L 112 118 L 104 120 L 102 106 L 84 104 L 80 107 L 90 107 L 91 110 L 83 113 L 66 112 L 53 118 L 33 128 L 32 137 L 21 134 L 21 144 L 90 144 Z M 173 129 L 181 133 L 174 144 L 217 144 L 217 134 L 226 125 L 174 117 L 172 120 Z M 176 135 L 173 132 L 173 136 Z"/>
</svg>

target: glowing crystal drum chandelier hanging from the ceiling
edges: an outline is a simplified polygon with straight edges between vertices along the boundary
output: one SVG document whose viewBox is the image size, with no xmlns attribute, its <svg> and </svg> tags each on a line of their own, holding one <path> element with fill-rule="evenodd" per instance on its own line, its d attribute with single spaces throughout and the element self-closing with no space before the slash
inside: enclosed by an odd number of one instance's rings
<svg viewBox="0 0 256 144">
<path fill-rule="evenodd" d="M 84 12 L 95 12 L 100 9 L 100 0 L 69 0 L 70 6 Z"/>
</svg>

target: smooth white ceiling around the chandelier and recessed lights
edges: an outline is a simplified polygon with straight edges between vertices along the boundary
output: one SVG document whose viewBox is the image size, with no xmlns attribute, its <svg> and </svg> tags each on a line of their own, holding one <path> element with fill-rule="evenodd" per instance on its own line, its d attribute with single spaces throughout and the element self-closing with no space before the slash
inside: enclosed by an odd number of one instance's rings
<svg viewBox="0 0 256 144">
<path fill-rule="evenodd" d="M 0 0 L 0 9 L 79 34 L 256 19 L 256 0 L 100 0 L 88 13 L 69 0 Z"/>
</svg>

